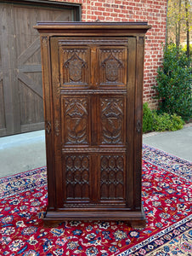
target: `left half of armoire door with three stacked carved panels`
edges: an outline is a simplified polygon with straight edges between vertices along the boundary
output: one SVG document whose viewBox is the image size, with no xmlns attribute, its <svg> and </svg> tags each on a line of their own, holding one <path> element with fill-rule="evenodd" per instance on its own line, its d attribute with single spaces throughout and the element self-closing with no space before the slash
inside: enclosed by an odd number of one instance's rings
<svg viewBox="0 0 192 256">
<path fill-rule="evenodd" d="M 51 38 L 56 205 L 91 201 L 91 48 Z M 75 45 L 74 45 L 75 44 Z"/>
</svg>

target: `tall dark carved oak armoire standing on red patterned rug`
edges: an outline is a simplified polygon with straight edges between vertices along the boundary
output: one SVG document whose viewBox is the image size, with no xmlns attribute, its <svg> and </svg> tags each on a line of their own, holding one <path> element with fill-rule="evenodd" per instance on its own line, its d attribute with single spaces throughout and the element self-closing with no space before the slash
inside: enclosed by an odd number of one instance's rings
<svg viewBox="0 0 192 256">
<path fill-rule="evenodd" d="M 141 203 L 146 22 L 39 22 L 48 165 L 44 223 L 145 224 Z"/>
</svg>

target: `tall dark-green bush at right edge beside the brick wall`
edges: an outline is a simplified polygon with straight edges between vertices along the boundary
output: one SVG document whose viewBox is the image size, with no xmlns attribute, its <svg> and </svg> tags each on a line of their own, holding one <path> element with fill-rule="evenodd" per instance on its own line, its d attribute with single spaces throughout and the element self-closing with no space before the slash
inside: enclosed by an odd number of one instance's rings
<svg viewBox="0 0 192 256">
<path fill-rule="evenodd" d="M 159 113 L 177 113 L 184 120 L 192 117 L 192 68 L 182 49 L 168 44 L 164 50 L 162 67 L 158 68 L 155 98 L 159 99 Z"/>
</svg>

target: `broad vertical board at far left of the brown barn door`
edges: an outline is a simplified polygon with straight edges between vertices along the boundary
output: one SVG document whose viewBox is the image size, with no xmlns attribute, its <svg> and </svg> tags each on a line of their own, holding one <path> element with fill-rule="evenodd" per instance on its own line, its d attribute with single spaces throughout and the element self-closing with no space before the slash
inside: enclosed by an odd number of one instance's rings
<svg viewBox="0 0 192 256">
<path fill-rule="evenodd" d="M 20 105 L 18 82 L 15 79 L 15 40 L 14 17 L 12 5 L 3 5 L 2 15 L 2 69 L 3 69 L 3 96 L 7 135 L 20 132 Z"/>
</svg>

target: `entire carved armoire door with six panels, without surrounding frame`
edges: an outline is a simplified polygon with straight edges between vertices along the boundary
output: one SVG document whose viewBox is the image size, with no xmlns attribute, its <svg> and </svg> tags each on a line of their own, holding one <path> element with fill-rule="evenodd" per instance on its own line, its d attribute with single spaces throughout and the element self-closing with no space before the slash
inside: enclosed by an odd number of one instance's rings
<svg viewBox="0 0 192 256">
<path fill-rule="evenodd" d="M 128 38 L 51 40 L 58 205 L 125 207 Z"/>
</svg>

